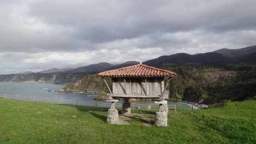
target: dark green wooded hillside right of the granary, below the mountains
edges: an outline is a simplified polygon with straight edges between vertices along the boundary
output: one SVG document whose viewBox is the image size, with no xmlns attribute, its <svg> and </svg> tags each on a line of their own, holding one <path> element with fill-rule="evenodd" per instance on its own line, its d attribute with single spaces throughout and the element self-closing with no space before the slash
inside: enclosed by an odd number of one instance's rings
<svg viewBox="0 0 256 144">
<path fill-rule="evenodd" d="M 167 67 L 176 72 L 169 83 L 169 100 L 213 104 L 256 97 L 256 66 Z"/>
</svg>

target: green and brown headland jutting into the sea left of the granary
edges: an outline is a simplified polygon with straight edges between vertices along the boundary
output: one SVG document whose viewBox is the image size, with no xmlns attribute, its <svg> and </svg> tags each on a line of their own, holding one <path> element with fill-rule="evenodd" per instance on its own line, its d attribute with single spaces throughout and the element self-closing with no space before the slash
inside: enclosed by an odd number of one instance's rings
<svg viewBox="0 0 256 144">
<path fill-rule="evenodd" d="M 110 89 L 112 89 L 111 79 L 105 78 Z M 98 92 L 98 93 L 107 93 L 108 88 L 104 81 L 97 77 L 96 75 L 84 76 L 77 83 L 72 83 L 62 88 L 65 92 Z"/>
</svg>

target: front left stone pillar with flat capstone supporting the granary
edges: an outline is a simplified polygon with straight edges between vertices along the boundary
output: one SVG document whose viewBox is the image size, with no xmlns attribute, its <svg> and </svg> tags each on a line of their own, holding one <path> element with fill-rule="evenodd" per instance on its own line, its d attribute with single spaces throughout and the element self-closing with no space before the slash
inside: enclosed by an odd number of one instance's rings
<svg viewBox="0 0 256 144">
<path fill-rule="evenodd" d="M 115 109 L 115 102 L 119 100 L 112 99 L 112 100 L 106 100 L 106 101 L 111 101 L 111 108 L 108 109 L 107 122 L 110 124 L 118 124 L 119 123 L 118 110 Z"/>
</svg>

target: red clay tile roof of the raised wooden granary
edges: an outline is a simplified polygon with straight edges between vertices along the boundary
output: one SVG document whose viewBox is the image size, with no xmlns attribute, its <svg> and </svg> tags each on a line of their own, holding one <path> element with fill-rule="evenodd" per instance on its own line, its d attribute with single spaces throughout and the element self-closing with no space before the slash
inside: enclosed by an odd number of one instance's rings
<svg viewBox="0 0 256 144">
<path fill-rule="evenodd" d="M 145 64 L 131 65 L 98 74 L 99 77 L 171 77 L 175 75 L 176 73 L 172 71 L 150 67 Z"/>
</svg>

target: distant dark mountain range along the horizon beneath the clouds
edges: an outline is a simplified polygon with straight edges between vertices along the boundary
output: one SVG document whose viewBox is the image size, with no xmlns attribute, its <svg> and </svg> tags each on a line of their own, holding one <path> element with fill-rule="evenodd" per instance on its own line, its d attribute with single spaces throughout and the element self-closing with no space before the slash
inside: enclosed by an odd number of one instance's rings
<svg viewBox="0 0 256 144">
<path fill-rule="evenodd" d="M 220 49 L 213 52 L 197 53 L 195 55 L 176 53 L 174 55 L 160 56 L 143 62 L 143 64 L 159 68 L 183 65 L 218 66 L 230 63 L 256 64 L 256 45 L 242 49 Z M 72 83 L 88 74 L 95 74 L 100 71 L 127 67 L 134 64 L 138 64 L 138 62 L 128 61 L 121 64 L 102 62 L 78 68 L 53 68 L 39 72 L 27 71 L 19 74 L 0 75 L 0 81 Z"/>
</svg>

